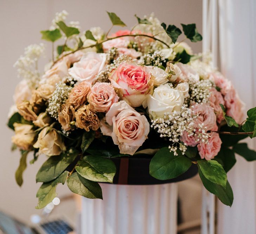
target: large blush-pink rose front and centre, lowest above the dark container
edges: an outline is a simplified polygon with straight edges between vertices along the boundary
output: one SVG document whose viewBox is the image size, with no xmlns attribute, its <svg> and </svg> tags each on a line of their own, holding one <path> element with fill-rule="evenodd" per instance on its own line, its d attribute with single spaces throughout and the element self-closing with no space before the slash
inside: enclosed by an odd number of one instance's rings
<svg viewBox="0 0 256 234">
<path fill-rule="evenodd" d="M 106 122 L 105 122 L 106 121 Z M 103 135 L 111 136 L 121 154 L 133 155 L 142 146 L 149 134 L 149 122 L 125 101 L 114 103 L 101 120 Z"/>
</svg>

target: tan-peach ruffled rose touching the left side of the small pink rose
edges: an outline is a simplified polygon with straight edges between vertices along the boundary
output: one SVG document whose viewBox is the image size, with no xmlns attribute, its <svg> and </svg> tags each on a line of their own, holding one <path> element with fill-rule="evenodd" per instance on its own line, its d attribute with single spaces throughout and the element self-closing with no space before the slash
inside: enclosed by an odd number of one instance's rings
<svg viewBox="0 0 256 234">
<path fill-rule="evenodd" d="M 68 95 L 68 105 L 72 105 L 75 110 L 82 106 L 87 101 L 87 94 L 90 92 L 91 87 L 91 83 L 87 81 L 76 84 Z"/>
</svg>

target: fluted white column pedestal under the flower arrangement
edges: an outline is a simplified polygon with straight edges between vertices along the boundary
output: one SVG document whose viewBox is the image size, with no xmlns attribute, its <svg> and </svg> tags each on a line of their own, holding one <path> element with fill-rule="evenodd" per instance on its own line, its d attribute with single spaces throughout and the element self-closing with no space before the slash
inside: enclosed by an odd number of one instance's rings
<svg viewBox="0 0 256 234">
<path fill-rule="evenodd" d="M 176 234 L 177 184 L 101 183 L 103 200 L 82 200 L 81 234 Z"/>
</svg>

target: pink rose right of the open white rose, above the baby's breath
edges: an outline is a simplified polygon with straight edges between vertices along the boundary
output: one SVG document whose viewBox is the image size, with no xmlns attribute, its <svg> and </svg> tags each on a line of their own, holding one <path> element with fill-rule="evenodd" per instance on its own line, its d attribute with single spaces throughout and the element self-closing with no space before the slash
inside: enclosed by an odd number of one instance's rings
<svg viewBox="0 0 256 234">
<path fill-rule="evenodd" d="M 208 106 L 205 103 L 196 103 L 193 105 L 192 110 L 194 114 L 198 115 L 198 117 L 194 121 L 195 127 L 197 127 L 198 124 L 203 123 L 207 131 L 216 128 L 216 115 L 212 107 Z"/>
</svg>

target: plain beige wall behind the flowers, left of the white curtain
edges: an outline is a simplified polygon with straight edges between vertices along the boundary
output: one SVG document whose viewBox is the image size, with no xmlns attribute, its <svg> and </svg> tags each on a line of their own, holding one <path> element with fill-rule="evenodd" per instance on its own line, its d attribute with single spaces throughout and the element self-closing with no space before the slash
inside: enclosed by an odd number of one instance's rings
<svg viewBox="0 0 256 234">
<path fill-rule="evenodd" d="M 14 173 L 19 163 L 19 153 L 11 153 L 11 136 L 13 132 L 6 127 L 7 113 L 13 104 L 12 95 L 18 83 L 14 62 L 24 52 L 24 47 L 39 43 L 40 30 L 50 26 L 55 12 L 65 9 L 70 13 L 69 21 L 79 21 L 83 30 L 92 26 L 110 27 L 105 11 L 117 13 L 128 25 L 132 26 L 139 16 L 155 12 L 166 24 L 196 23 L 202 32 L 202 0 L 0 0 L 0 95 L 1 95 L 1 134 L 0 134 L 0 210 L 29 220 L 29 216 L 40 213 L 34 207 L 37 204 L 35 194 L 39 184 L 35 183 L 35 174 L 45 160 L 44 156 L 34 165 L 28 165 L 24 173 L 24 185 L 19 188 L 14 180 Z M 116 28 L 118 29 L 118 28 Z M 47 44 L 47 58 L 50 58 L 50 45 Z M 201 43 L 192 44 L 195 52 L 201 51 Z M 44 61 L 47 61 L 45 59 Z M 59 194 L 67 194 L 66 186 L 59 186 Z"/>
</svg>

